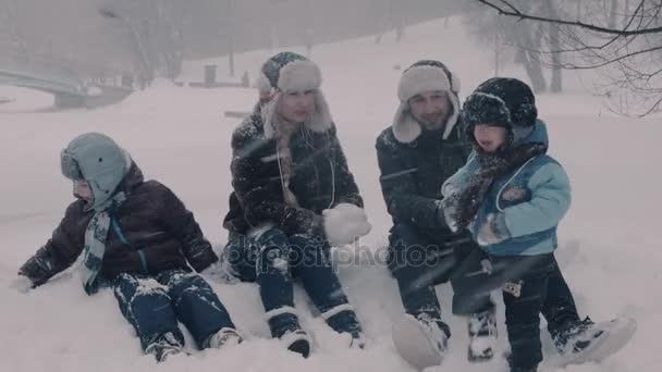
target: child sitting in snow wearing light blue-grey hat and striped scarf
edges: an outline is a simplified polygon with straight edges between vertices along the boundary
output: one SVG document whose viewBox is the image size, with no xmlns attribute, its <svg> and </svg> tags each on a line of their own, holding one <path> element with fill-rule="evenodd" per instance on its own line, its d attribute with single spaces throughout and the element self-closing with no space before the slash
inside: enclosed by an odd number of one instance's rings
<svg viewBox="0 0 662 372">
<path fill-rule="evenodd" d="M 166 186 L 143 179 L 111 138 L 88 133 L 61 153 L 76 201 L 48 243 L 19 271 L 16 286 L 34 288 L 79 265 L 88 295 L 112 287 L 146 354 L 158 361 L 183 350 L 184 323 L 199 348 L 241 342 L 230 314 L 200 272 L 218 261 L 196 223 Z"/>
</svg>

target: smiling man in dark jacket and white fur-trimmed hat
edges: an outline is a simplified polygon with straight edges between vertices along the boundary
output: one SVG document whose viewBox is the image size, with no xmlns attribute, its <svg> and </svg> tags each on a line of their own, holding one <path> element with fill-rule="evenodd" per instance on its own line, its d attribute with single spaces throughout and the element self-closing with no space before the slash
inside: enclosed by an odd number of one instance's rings
<svg viewBox="0 0 662 372">
<path fill-rule="evenodd" d="M 388 263 L 408 314 L 395 330 L 407 322 L 420 323 L 439 351 L 439 360 L 431 364 L 441 361 L 451 335 L 441 320 L 437 284 L 450 280 L 455 290 L 453 312 L 469 315 L 469 360 L 492 357 L 490 339 L 495 333 L 489 294 L 470 298 L 462 294 L 464 287 L 483 277 L 480 250 L 469 234 L 453 234 L 448 228 L 441 208 L 441 185 L 470 152 L 457 124 L 458 91 L 458 78 L 443 63 L 414 63 L 400 79 L 401 104 L 393 124 L 376 145 L 382 193 L 393 218 Z M 467 275 L 470 273 L 478 274 Z M 404 347 L 402 336 L 397 332 L 393 336 L 395 346 Z M 403 357 L 407 359 L 406 351 Z"/>
</svg>

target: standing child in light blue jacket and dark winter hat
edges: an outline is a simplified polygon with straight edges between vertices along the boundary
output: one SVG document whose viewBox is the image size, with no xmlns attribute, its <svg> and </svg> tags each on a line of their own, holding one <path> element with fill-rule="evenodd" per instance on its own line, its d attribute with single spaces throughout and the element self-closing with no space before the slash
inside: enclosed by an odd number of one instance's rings
<svg viewBox="0 0 662 372">
<path fill-rule="evenodd" d="M 544 312 L 563 363 L 599 360 L 622 347 L 636 330 L 632 320 L 594 324 L 577 314 L 554 258 L 556 226 L 571 204 L 568 177 L 547 154 L 549 141 L 531 89 L 514 78 L 491 78 L 463 107 L 474 154 L 446 181 L 444 216 L 454 231 L 469 228 L 486 252 L 489 283 L 476 293 L 503 288 L 512 354 L 511 372 L 535 372 L 542 361 L 540 313 Z M 620 339 L 604 340 L 615 335 Z"/>
</svg>

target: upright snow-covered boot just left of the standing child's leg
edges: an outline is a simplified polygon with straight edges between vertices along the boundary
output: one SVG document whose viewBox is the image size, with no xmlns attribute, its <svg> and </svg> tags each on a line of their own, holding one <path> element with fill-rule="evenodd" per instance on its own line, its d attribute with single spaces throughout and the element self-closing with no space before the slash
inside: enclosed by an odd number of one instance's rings
<svg viewBox="0 0 662 372">
<path fill-rule="evenodd" d="M 492 359 L 497 347 L 497 318 L 494 310 L 471 314 L 468 319 L 469 362 L 482 362 Z"/>
</svg>

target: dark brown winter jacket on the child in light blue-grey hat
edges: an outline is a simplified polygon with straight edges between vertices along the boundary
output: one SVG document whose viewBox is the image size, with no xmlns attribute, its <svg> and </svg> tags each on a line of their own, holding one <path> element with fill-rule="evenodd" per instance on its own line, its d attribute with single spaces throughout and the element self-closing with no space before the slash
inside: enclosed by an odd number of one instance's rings
<svg viewBox="0 0 662 372">
<path fill-rule="evenodd" d="M 126 200 L 111 211 L 100 275 L 156 274 L 170 269 L 201 271 L 218 260 L 193 213 L 166 186 L 143 178 L 134 163 L 118 187 Z M 66 209 L 52 237 L 20 269 L 35 285 L 71 266 L 83 251 L 85 230 L 94 211 L 82 200 Z"/>
</svg>

